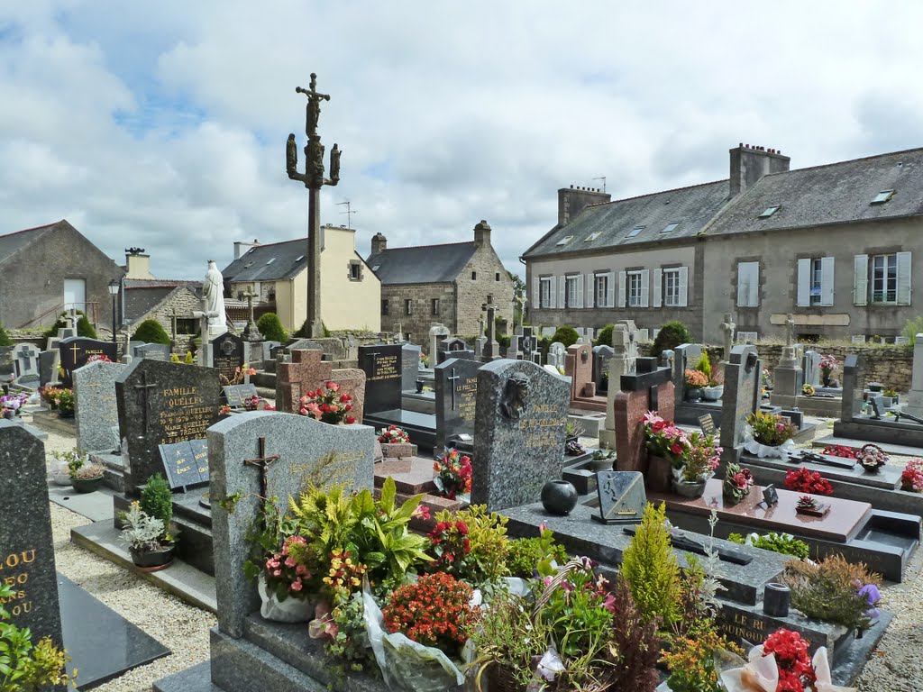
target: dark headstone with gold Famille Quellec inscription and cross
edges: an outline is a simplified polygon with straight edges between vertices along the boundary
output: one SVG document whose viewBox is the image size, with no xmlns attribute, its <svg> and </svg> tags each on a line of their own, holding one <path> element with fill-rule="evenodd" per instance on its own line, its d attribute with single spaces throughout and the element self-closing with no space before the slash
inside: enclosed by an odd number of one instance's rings
<svg viewBox="0 0 923 692">
<path fill-rule="evenodd" d="M 115 380 L 115 396 L 127 440 L 129 494 L 162 471 L 161 445 L 204 439 L 221 407 L 217 370 L 161 361 L 130 364 Z"/>
</svg>

